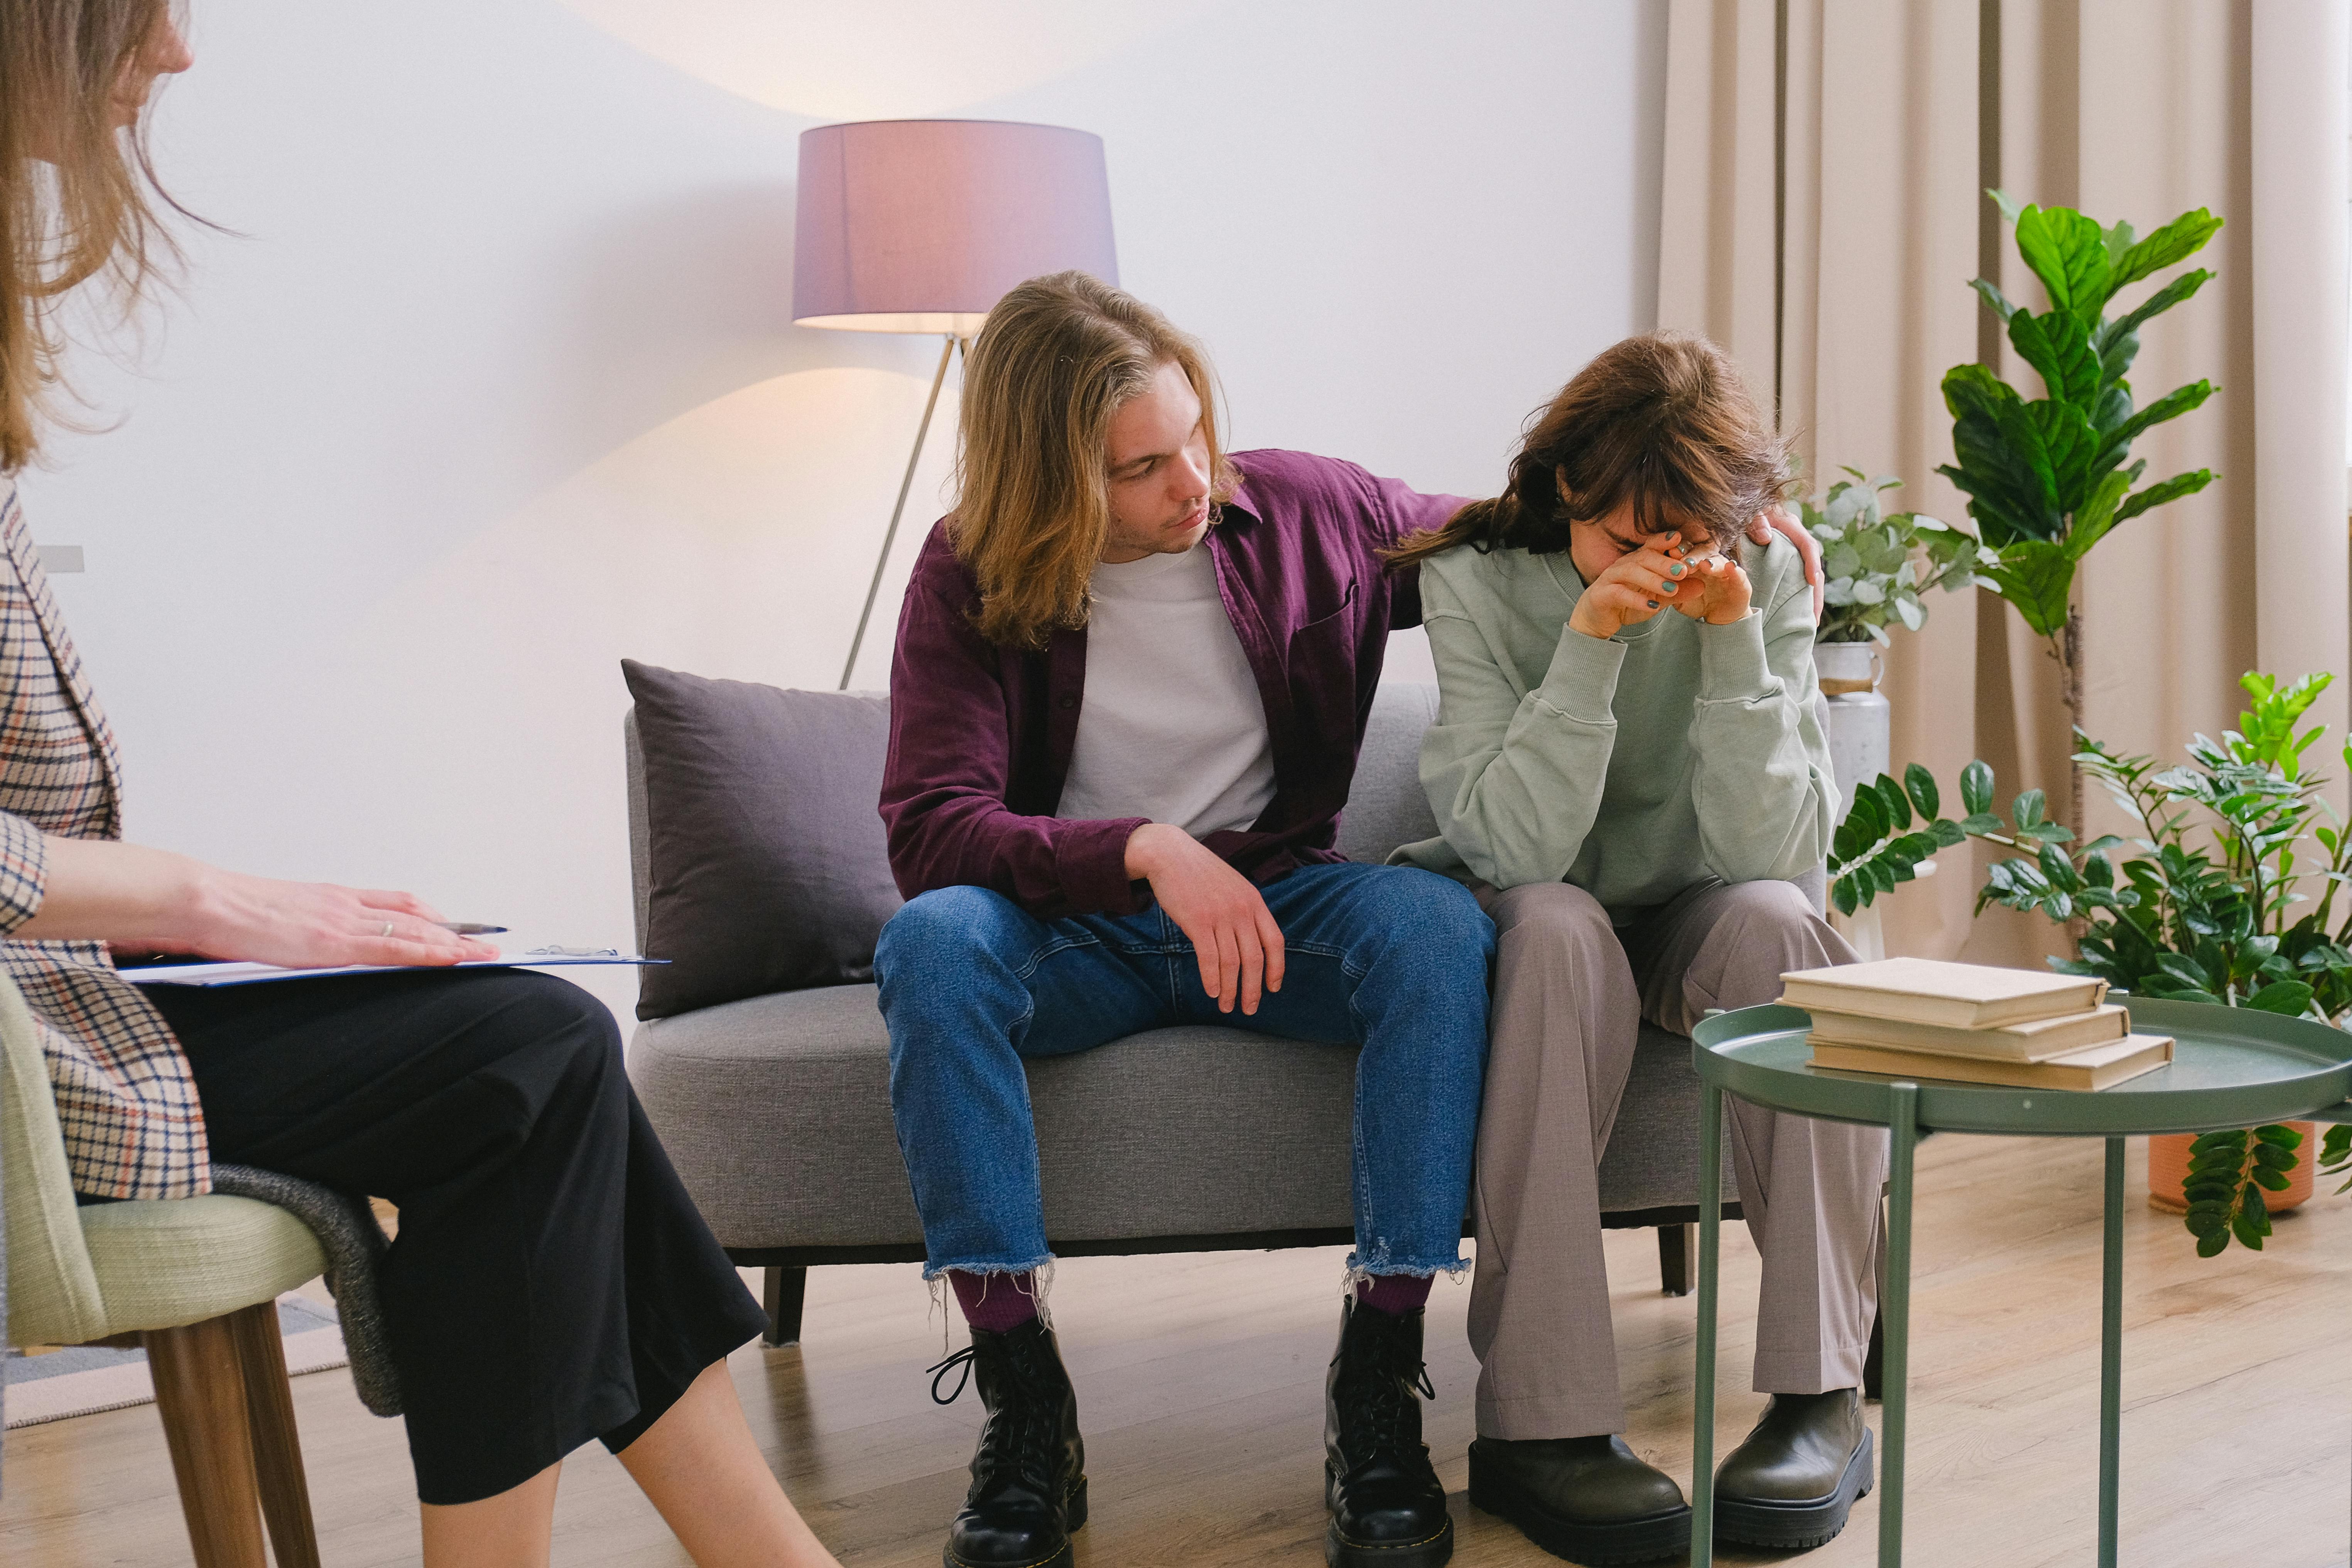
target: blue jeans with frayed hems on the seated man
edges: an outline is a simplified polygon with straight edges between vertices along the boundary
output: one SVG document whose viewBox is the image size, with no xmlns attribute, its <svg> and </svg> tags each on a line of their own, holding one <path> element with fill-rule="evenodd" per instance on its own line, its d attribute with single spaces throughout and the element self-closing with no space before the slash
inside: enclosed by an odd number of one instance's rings
<svg viewBox="0 0 2352 1568">
<path fill-rule="evenodd" d="M 1254 1016 L 1240 1004 L 1218 1013 L 1192 943 L 1157 905 L 1037 919 L 957 886 L 882 926 L 889 1100 L 922 1213 L 924 1279 L 1051 1260 L 1021 1058 L 1178 1023 L 1359 1046 L 1348 1267 L 1463 1267 L 1494 924 L 1468 889 L 1402 865 L 1308 865 L 1263 893 L 1287 973 Z"/>
</svg>

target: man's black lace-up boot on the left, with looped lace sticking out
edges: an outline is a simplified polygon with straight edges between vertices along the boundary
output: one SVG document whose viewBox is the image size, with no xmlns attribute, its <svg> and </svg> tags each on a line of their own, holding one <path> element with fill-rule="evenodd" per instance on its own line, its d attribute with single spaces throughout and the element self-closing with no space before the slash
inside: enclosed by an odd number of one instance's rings
<svg viewBox="0 0 2352 1568">
<path fill-rule="evenodd" d="M 1061 1347 L 1044 1319 L 1004 1333 L 971 1331 L 971 1347 L 931 1368 L 931 1399 L 957 1366 L 978 1382 L 988 1422 L 971 1455 L 964 1512 L 948 1526 L 946 1568 L 1068 1568 L 1070 1530 L 1087 1523 L 1087 1439 Z"/>
</svg>

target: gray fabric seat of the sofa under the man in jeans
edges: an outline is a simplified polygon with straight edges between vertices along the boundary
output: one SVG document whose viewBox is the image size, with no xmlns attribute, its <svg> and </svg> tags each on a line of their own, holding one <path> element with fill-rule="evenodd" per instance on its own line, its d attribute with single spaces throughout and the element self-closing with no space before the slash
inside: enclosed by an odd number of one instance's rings
<svg viewBox="0 0 2352 1568">
<path fill-rule="evenodd" d="M 875 987 L 640 1025 L 628 1072 L 724 1246 L 922 1241 Z M 1350 1222 L 1348 1046 L 1185 1025 L 1035 1060 L 1028 1079 L 1056 1241 Z"/>
</svg>

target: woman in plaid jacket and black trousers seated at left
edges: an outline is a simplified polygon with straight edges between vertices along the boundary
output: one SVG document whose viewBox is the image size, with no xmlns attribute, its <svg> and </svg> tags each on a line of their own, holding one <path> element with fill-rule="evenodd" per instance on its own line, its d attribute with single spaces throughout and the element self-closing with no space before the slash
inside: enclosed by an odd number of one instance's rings
<svg viewBox="0 0 2352 1568">
<path fill-rule="evenodd" d="M 191 1197 L 219 1157 L 400 1206 L 381 1288 L 430 1568 L 546 1563 L 557 1465 L 590 1439 L 706 1568 L 833 1563 L 727 1380 L 760 1307 L 654 1140 L 602 1004 L 503 969 L 238 990 L 115 973 L 113 952 L 496 957 L 407 893 L 120 842 L 113 736 L 12 475 L 35 454 L 61 284 L 106 275 L 132 303 L 162 247 L 139 125 L 155 78 L 188 63 L 169 0 L 12 0 L 0 26 L 0 964 L 40 1030 L 75 1187 Z"/>
</svg>

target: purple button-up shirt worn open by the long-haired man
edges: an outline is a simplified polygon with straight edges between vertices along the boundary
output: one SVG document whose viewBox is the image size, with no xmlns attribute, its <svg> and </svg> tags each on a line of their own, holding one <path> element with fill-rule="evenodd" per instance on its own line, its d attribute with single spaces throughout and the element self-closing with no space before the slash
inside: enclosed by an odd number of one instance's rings
<svg viewBox="0 0 2352 1568">
<path fill-rule="evenodd" d="M 1265 884 L 1343 858 L 1338 813 L 1388 632 L 1421 623 L 1418 571 L 1388 571 L 1378 552 L 1442 527 L 1463 501 L 1303 451 L 1242 451 L 1232 465 L 1242 487 L 1200 548 L 1258 679 L 1275 797 L 1247 830 L 1202 842 Z M 974 628 L 976 609 L 971 571 L 946 524 L 934 527 L 889 677 L 882 823 L 898 891 L 983 886 L 1044 919 L 1134 914 L 1150 893 L 1127 877 L 1127 837 L 1148 818 L 1054 816 L 1077 743 L 1087 632 L 1004 649 Z"/>
</svg>

